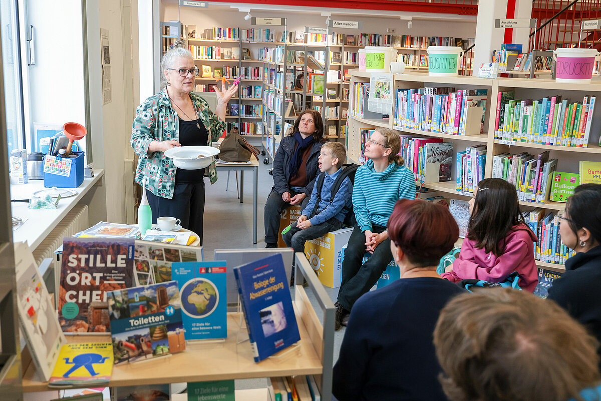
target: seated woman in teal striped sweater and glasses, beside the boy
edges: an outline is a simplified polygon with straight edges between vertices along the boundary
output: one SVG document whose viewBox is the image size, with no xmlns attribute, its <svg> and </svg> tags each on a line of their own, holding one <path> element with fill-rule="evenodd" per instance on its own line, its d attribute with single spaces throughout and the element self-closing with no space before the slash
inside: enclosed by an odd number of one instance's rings
<svg viewBox="0 0 601 401">
<path fill-rule="evenodd" d="M 346 326 L 350 310 L 370 291 L 392 261 L 386 232 L 388 217 L 398 199 L 415 199 L 415 178 L 398 155 L 398 131 L 377 128 L 365 143 L 364 166 L 357 169 L 353 185 L 353 210 L 357 224 L 344 251 L 342 282 L 336 306 L 336 330 Z M 365 253 L 370 258 L 362 263 Z"/>
</svg>

